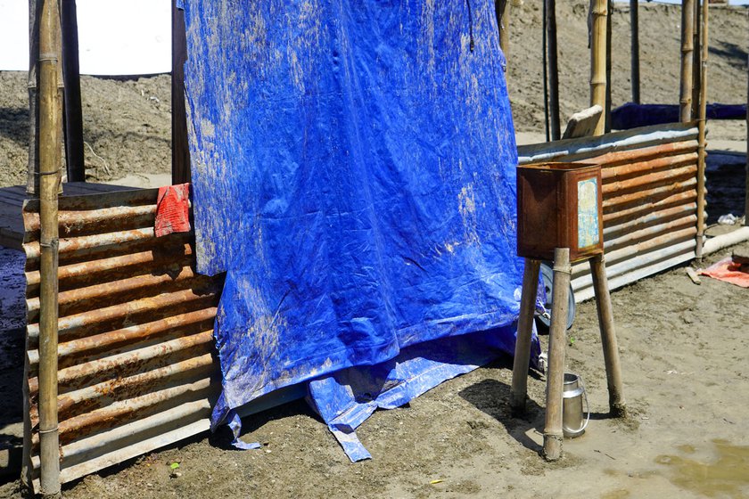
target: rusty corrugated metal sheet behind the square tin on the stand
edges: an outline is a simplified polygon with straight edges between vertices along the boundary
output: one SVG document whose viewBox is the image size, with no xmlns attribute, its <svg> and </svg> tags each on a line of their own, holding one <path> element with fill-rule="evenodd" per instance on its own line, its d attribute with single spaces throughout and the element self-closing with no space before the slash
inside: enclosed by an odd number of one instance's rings
<svg viewBox="0 0 749 499">
<path fill-rule="evenodd" d="M 606 275 L 611 289 L 695 258 L 698 130 L 693 124 L 518 148 L 521 165 L 584 162 L 601 167 Z M 587 264 L 572 267 L 575 299 L 593 297 Z"/>
</svg>

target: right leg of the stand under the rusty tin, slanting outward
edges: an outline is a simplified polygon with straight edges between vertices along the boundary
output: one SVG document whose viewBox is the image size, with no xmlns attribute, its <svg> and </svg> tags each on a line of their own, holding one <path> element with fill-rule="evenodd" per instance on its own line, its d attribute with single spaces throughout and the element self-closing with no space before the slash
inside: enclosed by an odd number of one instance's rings
<svg viewBox="0 0 749 499">
<path fill-rule="evenodd" d="M 590 271 L 593 274 L 593 288 L 596 291 L 596 303 L 598 307 L 598 324 L 601 328 L 601 343 L 604 347 L 609 407 L 613 416 L 623 417 L 627 415 L 627 406 L 624 402 L 624 392 L 621 389 L 619 348 L 616 343 L 616 332 L 613 329 L 611 295 L 608 290 L 603 255 L 590 258 Z"/>
</svg>

